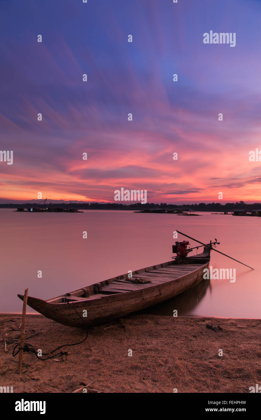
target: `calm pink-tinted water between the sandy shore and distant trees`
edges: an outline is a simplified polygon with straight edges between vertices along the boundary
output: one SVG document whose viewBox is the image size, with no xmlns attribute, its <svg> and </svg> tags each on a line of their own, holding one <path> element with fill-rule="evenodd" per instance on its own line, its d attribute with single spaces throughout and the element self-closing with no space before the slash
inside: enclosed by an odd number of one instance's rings
<svg viewBox="0 0 261 420">
<path fill-rule="evenodd" d="M 235 283 L 203 281 L 146 312 L 172 315 L 178 309 L 179 315 L 261 318 L 261 218 L 200 214 L 110 210 L 44 214 L 0 209 L 0 312 L 21 312 L 22 302 L 16 295 L 27 287 L 29 296 L 48 299 L 128 270 L 169 261 L 171 245 L 177 240 L 173 231 L 178 229 L 203 242 L 217 238 L 217 249 L 255 270 L 212 252 L 210 265 L 235 268 Z M 178 239 L 186 238 L 179 235 Z M 37 278 L 38 270 L 42 278 Z"/>
</svg>

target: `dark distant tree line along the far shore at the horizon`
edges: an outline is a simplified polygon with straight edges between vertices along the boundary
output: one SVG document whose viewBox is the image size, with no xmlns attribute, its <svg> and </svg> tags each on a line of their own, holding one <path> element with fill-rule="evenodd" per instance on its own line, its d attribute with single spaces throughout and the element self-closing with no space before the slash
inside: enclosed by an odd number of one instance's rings
<svg viewBox="0 0 261 420">
<path fill-rule="evenodd" d="M 60 207 L 60 208 L 77 208 L 79 210 L 147 210 L 147 209 L 154 209 L 154 208 L 164 208 L 164 209 L 191 209 L 195 211 L 232 211 L 235 208 L 237 209 L 246 209 L 246 210 L 253 210 L 253 209 L 260 209 L 261 203 L 254 203 L 254 204 L 245 204 L 243 201 L 237 201 L 235 203 L 226 203 L 221 204 L 218 203 L 199 203 L 199 204 L 166 204 L 166 203 L 133 203 L 133 204 L 120 204 L 120 203 L 48 203 L 48 204 L 37 204 L 37 203 L 24 203 L 24 204 L 0 204 L 0 208 L 46 208 L 46 207 Z"/>
</svg>

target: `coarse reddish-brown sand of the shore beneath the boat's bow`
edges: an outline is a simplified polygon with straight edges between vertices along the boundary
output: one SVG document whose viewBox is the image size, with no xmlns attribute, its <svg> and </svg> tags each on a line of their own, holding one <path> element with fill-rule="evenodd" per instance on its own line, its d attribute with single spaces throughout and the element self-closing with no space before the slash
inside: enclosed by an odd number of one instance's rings
<svg viewBox="0 0 261 420">
<path fill-rule="evenodd" d="M 220 325 L 215 332 L 207 322 Z M 0 315 L 0 338 L 19 337 L 20 314 Z M 13 329 L 12 329 L 13 328 Z M 49 352 L 85 337 L 85 331 L 65 327 L 42 315 L 26 316 L 26 336 L 34 348 Z M 92 327 L 68 355 L 24 366 L 16 374 L 18 355 L 0 341 L 0 385 L 13 392 L 71 393 L 91 383 L 101 392 L 239 392 L 261 384 L 261 320 L 167 317 L 131 314 Z M 219 356 L 222 349 L 223 356 Z M 128 356 L 131 354 L 132 356 Z M 24 355 L 30 363 L 32 354 Z M 35 358 L 35 357 L 34 357 Z M 88 391 L 89 392 L 89 391 Z"/>
</svg>

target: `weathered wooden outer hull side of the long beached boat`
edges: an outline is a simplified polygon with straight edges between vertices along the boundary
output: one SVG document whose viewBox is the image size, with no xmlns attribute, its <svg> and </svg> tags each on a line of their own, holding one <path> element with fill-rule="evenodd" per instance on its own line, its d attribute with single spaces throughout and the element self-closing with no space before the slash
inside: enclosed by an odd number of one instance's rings
<svg viewBox="0 0 261 420">
<path fill-rule="evenodd" d="M 174 278 L 173 281 L 163 281 L 151 286 L 146 284 L 140 290 L 65 303 L 49 303 L 28 297 L 27 304 L 45 317 L 63 325 L 76 328 L 83 327 L 83 323 L 87 326 L 97 325 L 177 296 L 199 283 L 203 279 L 203 270 L 208 266 L 209 259 L 197 269 Z M 18 297 L 23 300 L 22 295 Z"/>
</svg>

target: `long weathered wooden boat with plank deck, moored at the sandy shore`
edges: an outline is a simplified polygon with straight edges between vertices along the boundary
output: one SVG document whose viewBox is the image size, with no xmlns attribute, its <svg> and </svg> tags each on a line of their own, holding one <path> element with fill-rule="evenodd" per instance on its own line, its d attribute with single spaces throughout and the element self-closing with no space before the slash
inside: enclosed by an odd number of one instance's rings
<svg viewBox="0 0 261 420">
<path fill-rule="evenodd" d="M 201 254 L 191 257 L 187 256 L 191 249 L 186 249 L 183 256 L 175 260 L 132 273 L 133 279 L 150 283 L 131 283 L 128 274 L 123 274 L 48 300 L 28 297 L 27 304 L 63 325 L 100 324 L 171 299 L 195 286 L 203 279 L 204 268 L 209 266 L 211 247 L 211 243 L 205 245 Z M 18 297 L 23 300 L 23 295 L 18 294 Z"/>
</svg>

